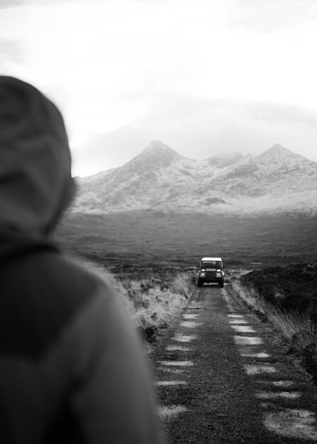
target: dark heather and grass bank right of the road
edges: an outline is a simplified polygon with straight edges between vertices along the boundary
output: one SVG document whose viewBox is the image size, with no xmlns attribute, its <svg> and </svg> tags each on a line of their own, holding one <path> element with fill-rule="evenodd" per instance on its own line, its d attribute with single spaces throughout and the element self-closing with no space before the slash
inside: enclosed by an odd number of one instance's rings
<svg viewBox="0 0 317 444">
<path fill-rule="evenodd" d="M 317 263 L 254 270 L 231 279 L 246 304 L 287 341 L 317 382 Z"/>
</svg>

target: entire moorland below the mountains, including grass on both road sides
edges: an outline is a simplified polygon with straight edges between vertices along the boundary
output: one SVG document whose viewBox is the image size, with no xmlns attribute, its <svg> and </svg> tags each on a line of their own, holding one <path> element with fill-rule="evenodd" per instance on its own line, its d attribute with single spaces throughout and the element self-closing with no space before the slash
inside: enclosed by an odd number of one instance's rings
<svg viewBox="0 0 317 444">
<path fill-rule="evenodd" d="M 317 381 L 317 216 L 67 213 L 56 238 L 111 273 L 150 341 L 187 304 L 199 259 L 220 255 L 240 297 L 282 333 Z"/>
</svg>

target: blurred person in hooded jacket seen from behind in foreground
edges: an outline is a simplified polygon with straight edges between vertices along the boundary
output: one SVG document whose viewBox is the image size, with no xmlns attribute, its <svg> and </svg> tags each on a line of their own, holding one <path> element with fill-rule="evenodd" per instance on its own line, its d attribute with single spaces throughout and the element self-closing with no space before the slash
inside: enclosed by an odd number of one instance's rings
<svg viewBox="0 0 317 444">
<path fill-rule="evenodd" d="M 73 194 L 60 112 L 0 77 L 0 443 L 162 443 L 118 296 L 48 241 Z"/>
</svg>

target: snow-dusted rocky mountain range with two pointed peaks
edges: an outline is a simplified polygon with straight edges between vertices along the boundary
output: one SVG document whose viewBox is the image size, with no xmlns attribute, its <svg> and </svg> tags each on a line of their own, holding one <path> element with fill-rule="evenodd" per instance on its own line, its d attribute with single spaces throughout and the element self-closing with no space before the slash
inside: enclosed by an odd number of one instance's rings
<svg viewBox="0 0 317 444">
<path fill-rule="evenodd" d="M 122 167 L 78 179 L 73 211 L 317 212 L 317 164 L 274 145 L 193 160 L 155 140 Z"/>
</svg>

